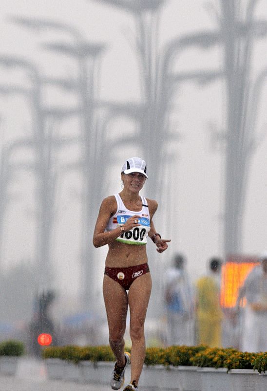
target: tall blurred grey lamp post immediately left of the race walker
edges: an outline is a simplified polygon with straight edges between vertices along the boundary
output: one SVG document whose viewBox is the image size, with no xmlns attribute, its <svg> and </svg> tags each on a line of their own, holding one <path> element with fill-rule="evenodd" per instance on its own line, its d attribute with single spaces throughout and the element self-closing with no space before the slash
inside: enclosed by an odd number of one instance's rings
<svg viewBox="0 0 267 391">
<path fill-rule="evenodd" d="M 82 171 L 82 219 L 81 219 L 81 296 L 84 310 L 95 306 L 95 261 L 92 249 L 95 205 L 101 196 L 105 177 L 105 158 L 102 155 L 97 127 L 99 122 L 95 113 L 95 74 L 104 45 L 88 43 L 76 27 L 46 19 L 13 17 L 13 22 L 35 30 L 54 29 L 64 31 L 73 43 L 49 43 L 46 48 L 56 53 L 72 57 L 78 64 L 78 80 L 75 81 L 81 117 L 81 161 Z M 89 68 L 89 69 L 88 69 Z M 95 202 L 95 204 L 94 204 Z"/>
</svg>

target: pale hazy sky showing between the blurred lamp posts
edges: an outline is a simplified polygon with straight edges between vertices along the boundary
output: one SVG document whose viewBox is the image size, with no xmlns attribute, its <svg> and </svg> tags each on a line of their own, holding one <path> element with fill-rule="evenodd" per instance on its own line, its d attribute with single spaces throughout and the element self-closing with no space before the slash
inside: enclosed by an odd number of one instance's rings
<svg viewBox="0 0 267 391">
<path fill-rule="evenodd" d="M 246 1 L 243 2 L 245 4 Z M 159 46 L 170 39 L 193 31 L 217 28 L 216 8 L 219 1 L 210 0 L 169 0 L 162 9 Z M 98 1 L 85 0 L 2 0 L 0 23 L 0 53 L 26 57 L 34 61 L 46 76 L 70 76 L 76 74 L 76 65 L 69 58 L 60 58 L 43 51 L 41 43 L 66 41 L 67 34 L 55 31 L 32 33 L 8 21 L 11 15 L 51 18 L 74 25 L 90 42 L 105 43 L 100 69 L 100 98 L 118 102 L 138 102 L 140 97 L 137 61 L 131 49 L 134 21 L 132 17 Z M 256 17 L 267 19 L 267 3 L 259 0 Z M 252 77 L 267 67 L 267 40 L 255 45 Z M 175 61 L 175 70 L 217 69 L 223 61 L 220 49 L 199 51 L 189 49 Z M 28 85 L 25 74 L 0 67 L 0 83 Z M 47 91 L 43 100 L 49 104 L 72 102 L 73 97 L 57 91 Z M 267 84 L 258 108 L 256 132 L 263 134 L 266 118 Z M 0 96 L 1 140 L 10 140 L 30 134 L 30 120 L 25 100 L 19 96 Z M 167 183 L 172 210 L 163 226 L 155 217 L 157 230 L 164 237 L 172 239 L 169 253 L 162 255 L 161 262 L 168 264 L 172 254 L 183 252 L 188 258 L 188 270 L 193 279 L 206 270 L 206 262 L 213 255 L 222 254 L 223 244 L 223 148 L 214 149 L 210 129 L 225 129 L 225 89 L 223 83 L 205 87 L 185 83 L 177 91 L 172 110 L 172 127 L 180 135 L 172 146 L 176 161 L 168 178 L 159 178 Z M 76 134 L 78 123 L 70 120 L 60 125 L 59 133 Z M 111 126 L 111 134 L 131 132 L 133 125 L 117 121 Z M 112 136 L 111 136 L 112 137 Z M 216 145 L 218 147 L 218 145 Z M 261 139 L 252 160 L 249 173 L 248 196 L 244 219 L 244 253 L 259 254 L 267 250 L 267 137 Z M 116 150 L 117 152 L 117 150 Z M 109 170 L 113 180 L 109 194 L 120 190 L 120 168 L 127 157 L 138 153 L 136 150 L 119 152 L 120 163 Z M 62 151 L 55 164 L 61 167 L 77 156 L 77 149 Z M 14 156 L 20 161 L 30 155 Z M 121 159 L 120 159 L 121 158 Z M 144 157 L 145 158 L 145 157 Z M 19 160 L 20 159 L 20 160 Z M 153 167 L 149 167 L 153 175 Z M 58 283 L 62 289 L 68 287 L 75 293 L 78 285 L 79 227 L 80 227 L 80 181 L 75 174 L 62 174 L 58 182 L 57 224 L 54 236 L 54 259 L 58 272 Z M 165 185 L 164 185 L 165 186 Z M 29 174 L 18 174 L 11 190 L 17 194 L 9 206 L 5 223 L 4 265 L 21 258 L 34 256 L 34 180 Z M 145 189 L 143 191 L 145 195 Z M 108 195 L 108 194 L 107 194 Z M 101 200 L 99 199 L 99 204 Z M 98 208 L 99 205 L 96 206 Z M 161 206 L 159 205 L 159 210 Z M 106 249 L 97 250 L 99 273 L 104 268 Z M 151 260 L 152 261 L 152 260 Z M 100 289 L 100 284 L 99 284 Z"/>
</svg>

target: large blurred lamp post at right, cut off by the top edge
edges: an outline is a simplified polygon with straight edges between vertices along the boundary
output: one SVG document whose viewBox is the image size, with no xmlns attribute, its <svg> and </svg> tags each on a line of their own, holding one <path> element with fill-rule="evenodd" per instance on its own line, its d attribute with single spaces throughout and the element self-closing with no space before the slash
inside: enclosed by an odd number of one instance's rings
<svg viewBox="0 0 267 391">
<path fill-rule="evenodd" d="M 266 21 L 254 21 L 253 11 L 256 1 L 248 1 L 246 20 L 242 22 L 235 2 L 222 0 L 221 28 L 218 31 L 200 32 L 173 40 L 167 46 L 164 68 L 169 69 L 172 57 L 186 44 L 209 48 L 221 44 L 225 51 L 225 65 L 222 70 L 201 73 L 172 75 L 172 80 L 196 79 L 199 83 L 210 83 L 217 78 L 227 85 L 227 130 L 225 169 L 225 232 L 224 254 L 238 254 L 242 251 L 242 223 L 249 163 L 255 143 L 255 122 L 259 92 L 263 86 L 266 71 L 253 83 L 250 80 L 250 62 L 255 37 L 262 38 L 267 33 Z M 233 7 L 233 8 L 231 8 Z M 240 11 L 241 12 L 241 11 Z M 251 92 L 252 91 L 252 92 Z"/>
</svg>

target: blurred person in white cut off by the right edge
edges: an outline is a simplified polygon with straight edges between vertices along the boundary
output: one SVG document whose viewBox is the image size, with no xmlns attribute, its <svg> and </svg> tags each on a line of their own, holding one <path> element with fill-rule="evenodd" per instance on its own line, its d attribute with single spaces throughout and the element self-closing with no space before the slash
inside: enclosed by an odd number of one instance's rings
<svg viewBox="0 0 267 391">
<path fill-rule="evenodd" d="M 259 261 L 261 265 L 255 266 L 248 274 L 237 299 L 237 307 L 241 299 L 247 299 L 241 321 L 243 351 L 267 351 L 267 252 L 259 257 Z"/>
</svg>

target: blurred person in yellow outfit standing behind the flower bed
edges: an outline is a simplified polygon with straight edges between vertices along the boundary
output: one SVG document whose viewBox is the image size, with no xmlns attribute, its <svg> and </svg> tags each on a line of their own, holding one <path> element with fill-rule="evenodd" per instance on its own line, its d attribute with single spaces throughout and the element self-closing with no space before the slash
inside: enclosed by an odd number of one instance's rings
<svg viewBox="0 0 267 391">
<path fill-rule="evenodd" d="M 208 345 L 210 348 L 222 345 L 221 265 L 219 258 L 211 258 L 208 275 L 196 281 L 196 339 L 198 344 Z"/>
</svg>

